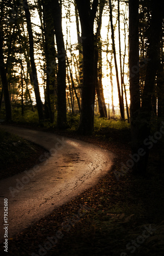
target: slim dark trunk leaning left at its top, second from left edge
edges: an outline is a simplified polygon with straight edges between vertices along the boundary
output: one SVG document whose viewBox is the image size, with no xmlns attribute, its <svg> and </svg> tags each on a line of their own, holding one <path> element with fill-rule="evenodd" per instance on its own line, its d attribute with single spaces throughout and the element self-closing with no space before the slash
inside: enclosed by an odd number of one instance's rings
<svg viewBox="0 0 164 256">
<path fill-rule="evenodd" d="M 34 84 L 34 92 L 36 97 L 39 121 L 41 121 L 41 120 L 44 120 L 44 114 L 43 114 L 43 105 L 40 98 L 39 83 L 38 83 L 37 70 L 36 70 L 35 59 L 34 59 L 34 38 L 33 38 L 32 24 L 31 24 L 31 15 L 28 8 L 28 1 L 25 0 L 23 1 L 23 3 L 24 3 L 23 6 L 25 11 L 25 18 L 27 22 L 27 29 L 29 34 L 30 60 L 31 60 L 32 73 L 33 73 L 32 79 Z"/>
</svg>

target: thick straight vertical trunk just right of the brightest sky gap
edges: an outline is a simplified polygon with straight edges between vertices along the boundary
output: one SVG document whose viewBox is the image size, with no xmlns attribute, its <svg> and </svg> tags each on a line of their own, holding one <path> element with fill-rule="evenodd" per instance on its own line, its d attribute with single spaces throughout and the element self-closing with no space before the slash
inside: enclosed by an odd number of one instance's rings
<svg viewBox="0 0 164 256">
<path fill-rule="evenodd" d="M 137 154 L 139 150 L 139 120 L 140 103 L 140 73 L 133 69 L 139 63 L 139 0 L 129 0 L 129 75 L 130 75 L 130 124 L 131 151 Z M 134 162 L 133 172 L 137 173 Z"/>
</svg>

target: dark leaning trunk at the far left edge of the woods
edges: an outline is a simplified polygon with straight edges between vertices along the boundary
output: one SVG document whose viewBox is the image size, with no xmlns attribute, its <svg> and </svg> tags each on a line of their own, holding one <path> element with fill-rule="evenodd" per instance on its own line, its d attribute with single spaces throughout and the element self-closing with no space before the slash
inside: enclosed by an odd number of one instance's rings
<svg viewBox="0 0 164 256">
<path fill-rule="evenodd" d="M 3 91 L 4 91 L 6 119 L 7 121 L 10 121 L 12 120 L 12 111 L 11 111 L 11 102 L 10 102 L 9 89 L 8 89 L 7 74 L 5 70 L 4 53 L 3 53 L 3 36 L 1 31 L 1 24 L 0 24 L 0 72 L 1 72 Z"/>
</svg>

